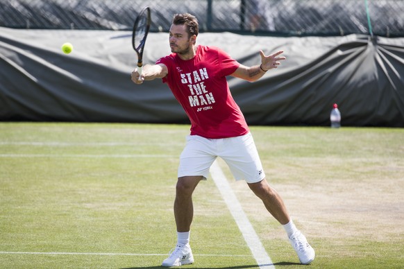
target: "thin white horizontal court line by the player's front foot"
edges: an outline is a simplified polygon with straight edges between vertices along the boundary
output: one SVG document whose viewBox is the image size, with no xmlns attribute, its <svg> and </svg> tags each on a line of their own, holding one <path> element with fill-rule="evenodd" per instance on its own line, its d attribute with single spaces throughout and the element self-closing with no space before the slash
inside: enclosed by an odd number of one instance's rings
<svg viewBox="0 0 404 269">
<path fill-rule="evenodd" d="M 0 254 L 28 254 L 28 255 L 93 255 L 93 256 L 167 256 L 157 253 L 96 253 L 96 252 L 19 252 L 19 251 L 0 251 Z M 194 256 L 205 257 L 249 257 L 250 255 L 233 254 L 194 254 Z"/>
</svg>

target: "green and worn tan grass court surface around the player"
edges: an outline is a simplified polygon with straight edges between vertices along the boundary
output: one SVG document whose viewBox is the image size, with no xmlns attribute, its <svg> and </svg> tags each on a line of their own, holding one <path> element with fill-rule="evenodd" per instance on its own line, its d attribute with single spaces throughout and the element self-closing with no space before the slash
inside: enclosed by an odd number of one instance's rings
<svg viewBox="0 0 404 269">
<path fill-rule="evenodd" d="M 403 129 L 251 130 L 267 179 L 316 250 L 310 268 L 402 267 Z M 0 123 L 0 268 L 158 268 L 176 243 L 172 205 L 188 132 Z M 300 268 L 283 228 L 219 164 L 276 268 Z M 211 179 L 194 205 L 196 263 L 184 268 L 258 268 Z"/>
</svg>

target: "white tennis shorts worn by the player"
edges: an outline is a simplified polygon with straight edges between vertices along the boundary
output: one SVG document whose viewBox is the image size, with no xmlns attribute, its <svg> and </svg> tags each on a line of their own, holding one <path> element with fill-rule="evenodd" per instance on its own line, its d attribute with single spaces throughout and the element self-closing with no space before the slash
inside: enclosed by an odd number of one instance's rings
<svg viewBox="0 0 404 269">
<path fill-rule="evenodd" d="M 187 144 L 180 155 L 178 177 L 201 175 L 206 179 L 217 157 L 224 159 L 235 180 L 255 183 L 265 177 L 251 133 L 224 139 L 188 135 Z"/>
</svg>

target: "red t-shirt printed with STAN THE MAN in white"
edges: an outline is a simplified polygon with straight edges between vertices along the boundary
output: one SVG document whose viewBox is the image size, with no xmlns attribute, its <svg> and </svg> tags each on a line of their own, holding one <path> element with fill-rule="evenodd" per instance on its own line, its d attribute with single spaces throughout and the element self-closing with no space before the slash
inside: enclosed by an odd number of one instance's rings
<svg viewBox="0 0 404 269">
<path fill-rule="evenodd" d="M 156 64 L 167 67 L 168 75 L 162 82 L 167 83 L 190 118 L 191 134 L 218 139 L 249 132 L 226 80 L 239 62 L 227 53 L 217 47 L 199 45 L 191 60 L 181 60 L 171 53 Z"/>
</svg>

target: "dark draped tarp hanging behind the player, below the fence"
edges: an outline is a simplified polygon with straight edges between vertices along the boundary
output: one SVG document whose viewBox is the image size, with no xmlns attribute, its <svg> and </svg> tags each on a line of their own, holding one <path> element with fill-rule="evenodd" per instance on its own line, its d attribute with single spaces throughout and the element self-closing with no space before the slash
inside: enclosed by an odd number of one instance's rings
<svg viewBox="0 0 404 269">
<path fill-rule="evenodd" d="M 342 125 L 404 127 L 404 38 L 201 33 L 197 43 L 246 65 L 260 49 L 285 51 L 258 82 L 228 78 L 251 125 L 328 125 L 338 103 Z M 144 62 L 168 53 L 168 34 L 150 33 Z M 136 60 L 128 31 L 0 28 L 0 120 L 187 123 L 161 80 L 131 82 Z"/>
</svg>

